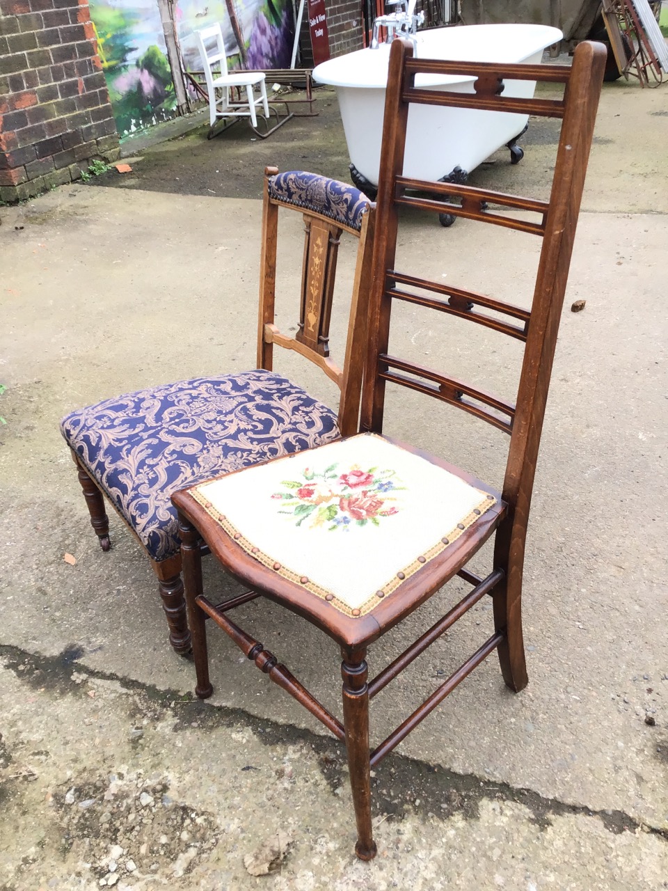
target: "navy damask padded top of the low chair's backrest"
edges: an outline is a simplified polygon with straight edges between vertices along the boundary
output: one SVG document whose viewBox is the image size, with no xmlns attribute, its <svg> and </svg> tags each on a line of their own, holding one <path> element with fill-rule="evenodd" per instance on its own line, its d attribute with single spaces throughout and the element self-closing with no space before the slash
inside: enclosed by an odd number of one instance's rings
<svg viewBox="0 0 668 891">
<path fill-rule="evenodd" d="M 364 192 L 354 186 L 305 170 L 288 170 L 270 176 L 269 197 L 297 208 L 313 210 L 357 232 L 362 229 L 362 218 L 371 204 Z"/>
</svg>

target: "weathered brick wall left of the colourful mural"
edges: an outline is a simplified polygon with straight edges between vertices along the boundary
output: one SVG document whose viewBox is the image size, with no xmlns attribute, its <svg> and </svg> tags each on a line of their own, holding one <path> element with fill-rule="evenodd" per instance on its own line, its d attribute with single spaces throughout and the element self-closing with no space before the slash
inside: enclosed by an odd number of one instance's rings
<svg viewBox="0 0 668 891">
<path fill-rule="evenodd" d="M 0 199 L 118 154 L 87 0 L 0 0 Z"/>
</svg>

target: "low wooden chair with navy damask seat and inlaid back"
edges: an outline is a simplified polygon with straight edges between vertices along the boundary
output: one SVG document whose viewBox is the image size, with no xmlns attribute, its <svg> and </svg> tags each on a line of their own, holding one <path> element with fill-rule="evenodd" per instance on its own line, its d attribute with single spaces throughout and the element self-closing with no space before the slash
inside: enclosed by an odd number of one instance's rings
<svg viewBox="0 0 668 891">
<path fill-rule="evenodd" d="M 279 208 L 303 216 L 304 261 L 294 338 L 274 324 Z M 366 347 L 374 208 L 353 186 L 265 169 L 257 371 L 181 380 L 69 413 L 61 432 L 102 551 L 110 550 L 106 495 L 158 577 L 178 653 L 191 649 L 181 580 L 178 519 L 169 496 L 218 473 L 307 449 L 357 430 Z M 342 233 L 357 242 L 343 368 L 330 358 L 331 305 Z M 273 347 L 295 350 L 340 390 L 338 414 L 273 372 Z"/>
</svg>

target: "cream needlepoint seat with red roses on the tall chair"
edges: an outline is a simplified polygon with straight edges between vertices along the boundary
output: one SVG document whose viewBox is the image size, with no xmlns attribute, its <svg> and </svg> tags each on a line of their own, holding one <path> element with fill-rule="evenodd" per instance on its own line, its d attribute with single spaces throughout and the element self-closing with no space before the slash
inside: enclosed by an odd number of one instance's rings
<svg viewBox="0 0 668 891">
<path fill-rule="evenodd" d="M 451 561 L 462 538 L 493 531 L 501 497 L 464 477 L 361 434 L 200 483 L 188 495 L 214 521 L 206 535 L 213 551 L 216 540 L 225 546 L 232 539 L 294 586 L 302 609 L 329 612 L 344 642 L 354 628 L 345 617 L 372 617 L 381 604 L 391 609 L 412 576 Z M 373 627 L 363 625 L 367 633 Z M 362 627 L 352 631 L 359 633 Z"/>
</svg>

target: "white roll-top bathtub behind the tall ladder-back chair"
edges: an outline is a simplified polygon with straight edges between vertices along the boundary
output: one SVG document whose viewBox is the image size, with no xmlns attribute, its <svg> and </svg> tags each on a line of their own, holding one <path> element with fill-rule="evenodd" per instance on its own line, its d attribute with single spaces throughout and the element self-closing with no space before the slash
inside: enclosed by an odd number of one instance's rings
<svg viewBox="0 0 668 891">
<path fill-rule="evenodd" d="M 466 25 L 418 32 L 422 59 L 540 62 L 543 50 L 562 37 L 543 25 Z M 336 86 L 348 153 L 356 171 L 378 185 L 389 45 L 322 62 L 314 79 Z M 444 86 L 473 93 L 475 78 L 419 75 L 416 86 Z M 505 96 L 534 95 L 534 81 L 509 80 Z M 403 175 L 439 180 L 461 168 L 464 178 L 501 145 L 520 134 L 528 116 L 502 111 L 412 105 L 408 114 Z M 521 153 L 515 156 L 519 159 Z M 456 175 L 455 175 L 456 176 Z M 362 184 L 361 180 L 358 183 Z"/>
</svg>

